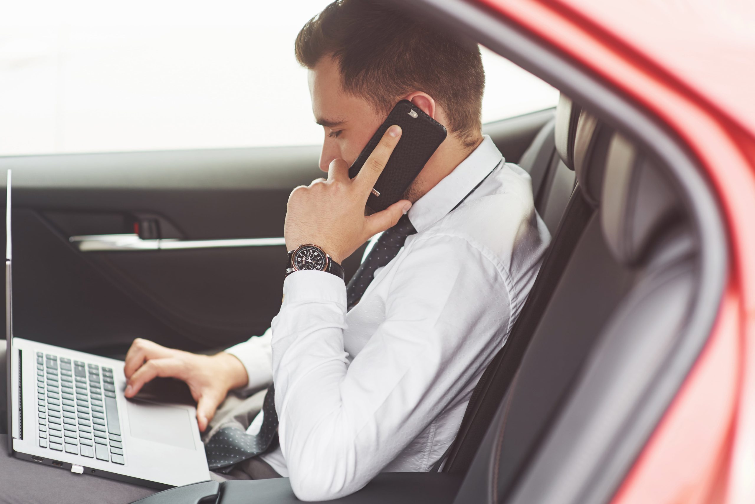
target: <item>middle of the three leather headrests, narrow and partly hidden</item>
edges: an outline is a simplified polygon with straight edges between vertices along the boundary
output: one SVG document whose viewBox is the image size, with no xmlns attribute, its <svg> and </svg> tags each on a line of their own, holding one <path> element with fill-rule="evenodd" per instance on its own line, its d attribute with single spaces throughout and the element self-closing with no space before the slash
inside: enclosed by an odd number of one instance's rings
<svg viewBox="0 0 755 504">
<path fill-rule="evenodd" d="M 574 169 L 582 195 L 593 206 L 597 206 L 601 198 L 612 136 L 613 130 L 606 124 L 590 112 L 580 112 L 574 140 Z"/>
</svg>

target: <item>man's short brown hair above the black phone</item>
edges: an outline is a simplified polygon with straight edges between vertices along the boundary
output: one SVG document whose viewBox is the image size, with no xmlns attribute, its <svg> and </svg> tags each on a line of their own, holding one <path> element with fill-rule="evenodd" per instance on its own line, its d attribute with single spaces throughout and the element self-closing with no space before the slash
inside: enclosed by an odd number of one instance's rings
<svg viewBox="0 0 755 504">
<path fill-rule="evenodd" d="M 336 0 L 307 21 L 295 47 L 296 59 L 309 69 L 334 57 L 344 91 L 367 98 L 380 112 L 411 91 L 424 91 L 445 110 L 449 132 L 462 140 L 479 133 L 485 72 L 476 44 L 372 0 Z"/>
</svg>

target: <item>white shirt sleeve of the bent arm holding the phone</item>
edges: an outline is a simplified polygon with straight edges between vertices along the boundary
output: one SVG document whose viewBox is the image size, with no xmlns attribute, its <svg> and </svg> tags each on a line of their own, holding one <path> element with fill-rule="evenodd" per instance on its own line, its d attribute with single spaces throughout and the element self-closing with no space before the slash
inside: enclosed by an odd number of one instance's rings
<svg viewBox="0 0 755 504">
<path fill-rule="evenodd" d="M 300 499 L 367 484 L 451 401 L 465 400 L 508 332 L 508 278 L 490 254 L 451 235 L 409 247 L 381 273 L 390 282 L 386 318 L 351 364 L 344 282 L 326 272 L 285 280 L 273 374 L 281 449 Z"/>
</svg>

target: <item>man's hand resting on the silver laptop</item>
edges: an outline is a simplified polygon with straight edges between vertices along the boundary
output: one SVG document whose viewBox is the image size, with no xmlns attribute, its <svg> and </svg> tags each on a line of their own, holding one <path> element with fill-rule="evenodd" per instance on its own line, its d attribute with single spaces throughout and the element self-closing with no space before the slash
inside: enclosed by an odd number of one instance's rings
<svg viewBox="0 0 755 504">
<path fill-rule="evenodd" d="M 132 398 L 142 386 L 160 376 L 177 378 L 189 386 L 197 402 L 196 419 L 199 430 L 215 415 L 228 391 L 245 386 L 248 380 L 244 364 L 233 355 L 198 355 L 168 349 L 149 340 L 137 338 L 126 354 L 124 373 L 128 379 L 125 395 Z"/>
</svg>

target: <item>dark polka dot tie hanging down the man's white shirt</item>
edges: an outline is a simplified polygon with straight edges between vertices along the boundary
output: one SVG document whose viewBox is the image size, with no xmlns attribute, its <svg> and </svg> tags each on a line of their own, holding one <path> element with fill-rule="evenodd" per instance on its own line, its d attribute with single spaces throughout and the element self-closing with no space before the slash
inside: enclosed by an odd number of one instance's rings
<svg viewBox="0 0 755 504">
<path fill-rule="evenodd" d="M 370 250 L 359 269 L 346 287 L 348 309 L 352 309 L 362 299 L 365 290 L 374 277 L 374 272 L 390 263 L 404 246 L 408 235 L 417 232 L 404 215 L 396 226 L 384 232 Z M 262 404 L 262 426 L 256 435 L 247 434 L 238 427 L 219 429 L 205 445 L 207 463 L 211 470 L 227 474 L 236 464 L 264 453 L 278 437 L 278 413 L 276 412 L 275 389 L 267 389 Z"/>
</svg>

